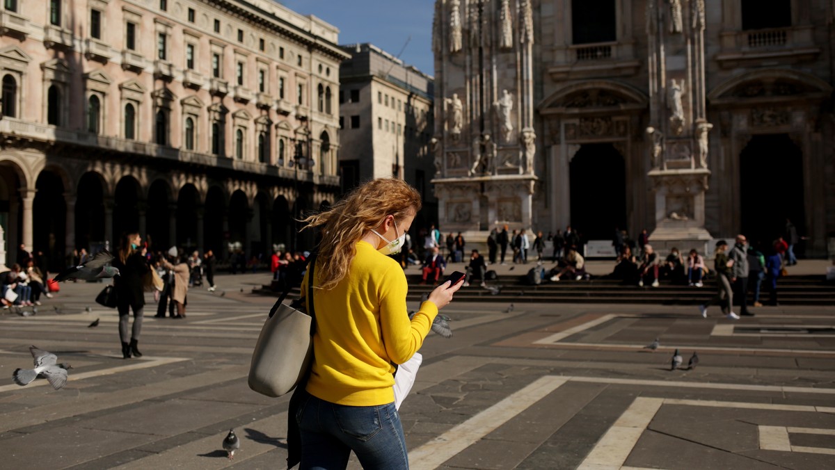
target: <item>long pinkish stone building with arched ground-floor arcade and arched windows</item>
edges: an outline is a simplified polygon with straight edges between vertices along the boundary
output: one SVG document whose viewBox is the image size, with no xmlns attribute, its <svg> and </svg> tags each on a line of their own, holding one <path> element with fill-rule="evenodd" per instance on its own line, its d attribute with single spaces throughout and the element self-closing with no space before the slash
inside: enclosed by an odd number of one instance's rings
<svg viewBox="0 0 835 470">
<path fill-rule="evenodd" d="M 257 255 L 337 198 L 337 28 L 268 0 L 3 7 L 7 246 L 52 269 L 134 230 Z"/>
</svg>

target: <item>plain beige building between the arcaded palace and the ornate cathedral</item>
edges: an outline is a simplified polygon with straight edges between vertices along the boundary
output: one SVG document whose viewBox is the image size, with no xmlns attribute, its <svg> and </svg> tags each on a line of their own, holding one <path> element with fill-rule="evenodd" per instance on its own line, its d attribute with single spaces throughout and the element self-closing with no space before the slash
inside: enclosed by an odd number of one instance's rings
<svg viewBox="0 0 835 470">
<path fill-rule="evenodd" d="M 342 46 L 352 58 L 340 66 L 342 190 L 395 176 L 424 195 L 416 230 L 437 220 L 429 180 L 434 174 L 433 78 L 372 44 Z"/>
</svg>

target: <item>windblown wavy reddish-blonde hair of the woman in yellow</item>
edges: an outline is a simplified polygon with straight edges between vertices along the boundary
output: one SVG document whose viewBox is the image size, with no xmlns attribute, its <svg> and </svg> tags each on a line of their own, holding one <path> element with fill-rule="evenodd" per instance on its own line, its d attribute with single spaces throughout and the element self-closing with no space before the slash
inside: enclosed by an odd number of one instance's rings
<svg viewBox="0 0 835 470">
<path fill-rule="evenodd" d="M 357 241 L 387 215 L 395 221 L 417 214 L 421 195 L 402 179 L 373 179 L 352 190 L 330 210 L 303 220 L 304 229 L 319 227 L 321 242 L 316 255 L 316 271 L 321 289 L 330 290 L 348 274 L 357 255 Z"/>
</svg>

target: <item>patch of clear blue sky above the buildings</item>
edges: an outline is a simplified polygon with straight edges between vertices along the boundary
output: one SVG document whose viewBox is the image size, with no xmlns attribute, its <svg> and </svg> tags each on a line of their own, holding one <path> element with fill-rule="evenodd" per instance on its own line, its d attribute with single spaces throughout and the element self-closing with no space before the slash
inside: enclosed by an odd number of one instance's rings
<svg viewBox="0 0 835 470">
<path fill-rule="evenodd" d="M 433 0 L 281 0 L 279 3 L 339 28 L 340 44 L 372 43 L 392 56 L 397 56 L 402 49 L 400 59 L 404 63 L 428 75 L 435 74 Z"/>
</svg>

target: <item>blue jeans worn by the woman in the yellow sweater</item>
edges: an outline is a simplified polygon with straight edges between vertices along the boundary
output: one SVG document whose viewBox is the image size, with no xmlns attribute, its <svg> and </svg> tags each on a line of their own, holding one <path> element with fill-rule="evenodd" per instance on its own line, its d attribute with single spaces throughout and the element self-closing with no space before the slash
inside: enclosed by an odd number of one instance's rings
<svg viewBox="0 0 835 470">
<path fill-rule="evenodd" d="M 407 469 L 406 437 L 394 402 L 348 407 L 306 393 L 296 412 L 300 470 L 345 468 L 351 451 L 366 469 Z"/>
</svg>

